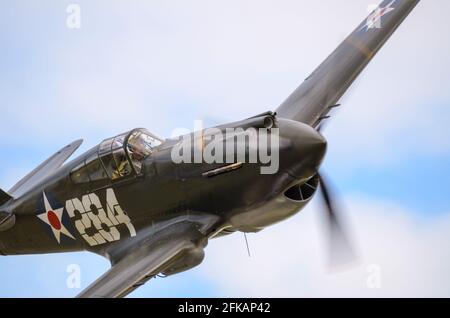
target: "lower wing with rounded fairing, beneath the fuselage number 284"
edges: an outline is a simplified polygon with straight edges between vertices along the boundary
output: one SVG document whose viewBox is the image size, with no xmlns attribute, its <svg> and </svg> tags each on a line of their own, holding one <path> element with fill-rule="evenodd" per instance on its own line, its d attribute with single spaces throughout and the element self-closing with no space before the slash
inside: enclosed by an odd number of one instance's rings
<svg viewBox="0 0 450 318">
<path fill-rule="evenodd" d="M 106 251 L 111 269 L 77 297 L 125 297 L 160 273 L 172 275 L 197 266 L 216 222 L 215 216 L 187 215 L 139 231 L 138 236 Z"/>
</svg>

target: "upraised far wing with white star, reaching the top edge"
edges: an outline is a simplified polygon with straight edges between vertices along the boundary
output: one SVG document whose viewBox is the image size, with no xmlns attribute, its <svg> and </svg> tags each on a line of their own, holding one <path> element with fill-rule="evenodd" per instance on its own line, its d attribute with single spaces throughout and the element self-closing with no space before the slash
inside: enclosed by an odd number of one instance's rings
<svg viewBox="0 0 450 318">
<path fill-rule="evenodd" d="M 317 127 L 419 0 L 385 0 L 277 109 Z"/>
</svg>

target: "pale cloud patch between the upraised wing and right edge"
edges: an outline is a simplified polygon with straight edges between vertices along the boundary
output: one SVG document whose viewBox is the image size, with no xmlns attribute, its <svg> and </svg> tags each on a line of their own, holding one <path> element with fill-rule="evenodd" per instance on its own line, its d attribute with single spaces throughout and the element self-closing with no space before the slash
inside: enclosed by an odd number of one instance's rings
<svg viewBox="0 0 450 318">
<path fill-rule="evenodd" d="M 422 1 L 343 99 L 326 135 L 339 164 L 399 163 L 448 155 L 450 42 L 442 9 Z M 431 22 L 432 21 L 432 22 Z"/>
</svg>

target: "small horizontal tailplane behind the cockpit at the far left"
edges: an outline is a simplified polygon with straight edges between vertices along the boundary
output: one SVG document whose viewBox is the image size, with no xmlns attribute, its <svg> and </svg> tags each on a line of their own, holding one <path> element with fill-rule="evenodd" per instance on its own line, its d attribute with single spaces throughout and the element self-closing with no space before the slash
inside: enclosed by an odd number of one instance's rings
<svg viewBox="0 0 450 318">
<path fill-rule="evenodd" d="M 61 167 L 82 143 L 83 140 L 77 140 L 62 148 L 60 151 L 40 164 L 36 169 L 31 171 L 22 180 L 20 180 L 14 187 L 11 188 L 11 190 L 8 191 L 8 194 L 13 197 L 20 197 L 26 193 L 45 177 Z"/>
</svg>

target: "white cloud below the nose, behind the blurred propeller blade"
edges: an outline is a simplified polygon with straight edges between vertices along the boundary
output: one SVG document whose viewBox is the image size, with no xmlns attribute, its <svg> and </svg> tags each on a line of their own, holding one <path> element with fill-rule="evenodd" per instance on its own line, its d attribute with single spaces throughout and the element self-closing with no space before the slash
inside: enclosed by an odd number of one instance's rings
<svg viewBox="0 0 450 318">
<path fill-rule="evenodd" d="M 239 234 L 210 242 L 204 275 L 220 294 L 234 297 L 450 297 L 449 214 L 426 218 L 389 202 L 348 202 L 359 255 L 353 269 L 329 272 L 314 204 L 251 235 L 251 258 Z M 378 268 L 381 288 L 368 288 Z"/>
</svg>

